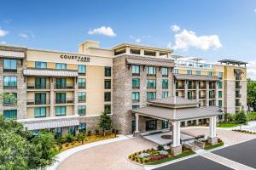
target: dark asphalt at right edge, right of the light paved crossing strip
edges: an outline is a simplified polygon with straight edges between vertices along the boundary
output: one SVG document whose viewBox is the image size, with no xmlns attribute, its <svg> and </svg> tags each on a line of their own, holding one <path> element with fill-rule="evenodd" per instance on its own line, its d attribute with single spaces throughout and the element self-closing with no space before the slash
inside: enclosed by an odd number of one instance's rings
<svg viewBox="0 0 256 170">
<path fill-rule="evenodd" d="M 231 145 L 222 150 L 212 152 L 232 161 L 256 168 L 256 139 L 241 144 Z"/>
</svg>

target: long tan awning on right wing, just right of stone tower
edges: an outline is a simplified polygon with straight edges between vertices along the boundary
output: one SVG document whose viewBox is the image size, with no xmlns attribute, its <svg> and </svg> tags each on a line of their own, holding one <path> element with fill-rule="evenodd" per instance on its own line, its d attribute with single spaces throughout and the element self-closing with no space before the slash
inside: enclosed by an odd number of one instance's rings
<svg viewBox="0 0 256 170">
<path fill-rule="evenodd" d="M 185 74 L 174 74 L 177 80 L 199 80 L 199 81 L 218 81 L 218 77 L 208 77 L 202 75 L 185 75 Z"/>
</svg>

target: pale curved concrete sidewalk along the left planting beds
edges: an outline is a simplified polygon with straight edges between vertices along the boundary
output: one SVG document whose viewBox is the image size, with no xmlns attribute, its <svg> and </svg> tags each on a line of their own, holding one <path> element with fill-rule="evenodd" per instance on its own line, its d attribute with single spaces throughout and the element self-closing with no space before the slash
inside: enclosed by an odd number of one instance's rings
<svg viewBox="0 0 256 170">
<path fill-rule="evenodd" d="M 68 156 L 72 156 L 74 153 L 77 153 L 81 150 L 85 150 L 85 149 L 92 148 L 92 147 L 95 147 L 95 146 L 99 146 L 99 145 L 102 145 L 102 144 L 110 144 L 110 143 L 125 140 L 125 139 L 130 139 L 130 138 L 126 137 L 125 135 L 119 134 L 119 136 L 117 138 L 114 138 L 114 139 L 106 139 L 106 140 L 93 142 L 93 143 L 90 143 L 90 144 L 83 144 L 83 145 L 80 145 L 78 147 L 75 147 L 75 148 L 72 148 L 72 149 L 69 149 L 69 150 L 65 150 L 65 151 L 61 152 L 59 155 L 56 156 L 55 164 L 53 164 L 50 167 L 47 167 L 47 170 L 55 170 L 56 167 L 59 166 L 61 161 L 64 161 L 65 159 L 67 159 Z"/>
</svg>

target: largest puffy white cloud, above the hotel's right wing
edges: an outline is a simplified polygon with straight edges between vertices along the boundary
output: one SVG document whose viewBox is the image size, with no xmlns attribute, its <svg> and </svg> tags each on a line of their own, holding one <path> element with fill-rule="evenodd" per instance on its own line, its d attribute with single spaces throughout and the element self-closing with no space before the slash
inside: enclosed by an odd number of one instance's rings
<svg viewBox="0 0 256 170">
<path fill-rule="evenodd" d="M 175 30 L 174 35 L 175 44 L 173 49 L 183 49 L 187 50 L 189 48 L 199 48 L 203 50 L 208 50 L 210 48 L 217 49 L 221 48 L 222 44 L 218 39 L 217 35 L 209 36 L 197 36 L 194 31 L 183 31 Z"/>
</svg>

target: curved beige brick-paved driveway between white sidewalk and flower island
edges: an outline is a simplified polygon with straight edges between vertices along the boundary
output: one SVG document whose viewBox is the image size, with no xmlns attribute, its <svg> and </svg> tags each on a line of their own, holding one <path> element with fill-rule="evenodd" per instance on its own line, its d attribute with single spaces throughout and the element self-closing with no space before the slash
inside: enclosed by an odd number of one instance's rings
<svg viewBox="0 0 256 170">
<path fill-rule="evenodd" d="M 127 160 L 131 153 L 155 147 L 154 144 L 146 139 L 132 138 L 125 139 L 111 144 L 103 144 L 87 150 L 79 151 L 73 156 L 62 161 L 58 170 L 143 170 Z"/>
</svg>

